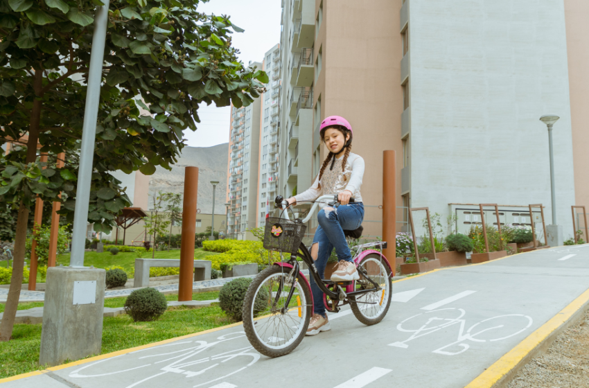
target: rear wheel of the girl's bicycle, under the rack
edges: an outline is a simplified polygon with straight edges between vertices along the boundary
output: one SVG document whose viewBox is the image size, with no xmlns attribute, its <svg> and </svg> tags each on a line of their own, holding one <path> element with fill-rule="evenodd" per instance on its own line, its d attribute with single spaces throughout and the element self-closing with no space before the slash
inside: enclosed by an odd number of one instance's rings
<svg viewBox="0 0 589 388">
<path fill-rule="evenodd" d="M 382 290 L 367 292 L 366 294 L 355 297 L 356 303 L 350 303 L 350 307 L 358 321 L 365 325 L 378 324 L 382 321 L 389 307 L 391 306 L 391 297 L 393 294 L 391 270 L 385 262 L 380 261 L 380 256 L 377 254 L 369 254 L 362 258 L 358 264 L 362 267 L 369 278 L 380 285 Z M 360 271 L 358 271 L 360 272 Z M 373 288 L 374 285 L 369 283 L 362 272 L 360 272 L 360 280 L 355 282 L 355 291 L 366 290 Z"/>
</svg>

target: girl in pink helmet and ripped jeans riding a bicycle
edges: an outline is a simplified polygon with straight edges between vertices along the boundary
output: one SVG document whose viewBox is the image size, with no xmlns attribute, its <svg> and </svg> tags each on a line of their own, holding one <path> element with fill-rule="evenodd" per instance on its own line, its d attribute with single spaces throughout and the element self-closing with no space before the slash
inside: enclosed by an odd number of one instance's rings
<svg viewBox="0 0 589 388">
<path fill-rule="evenodd" d="M 313 201 L 321 195 L 337 194 L 340 206 L 333 208 L 320 204 L 322 210 L 317 215 L 319 226 L 313 237 L 311 256 L 315 267 L 323 279 L 327 260 L 335 248 L 339 263 L 331 275 L 331 281 L 354 281 L 360 279 L 352 261 L 350 248 L 344 236 L 344 230 L 355 230 L 364 219 L 364 205 L 360 195 L 364 159 L 351 153 L 353 132 L 348 121 L 341 116 L 329 116 L 319 128 L 319 136 L 325 143 L 329 154 L 323 162 L 319 175 L 313 186 L 307 191 L 288 199 L 288 204 Z M 354 198 L 355 202 L 349 202 Z M 313 317 L 311 317 L 306 335 L 317 335 L 330 330 L 324 306 L 324 293 L 310 276 L 313 290 Z"/>
</svg>

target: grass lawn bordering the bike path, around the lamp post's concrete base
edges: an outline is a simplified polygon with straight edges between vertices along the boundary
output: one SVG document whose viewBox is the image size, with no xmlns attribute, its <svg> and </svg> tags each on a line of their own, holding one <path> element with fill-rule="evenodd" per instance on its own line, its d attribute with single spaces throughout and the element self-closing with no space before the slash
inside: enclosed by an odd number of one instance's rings
<svg viewBox="0 0 589 388">
<path fill-rule="evenodd" d="M 117 255 L 118 256 L 118 255 Z M 199 292 L 193 300 L 216 299 L 218 292 Z M 168 301 L 178 299 L 177 294 L 166 295 Z M 105 306 L 120 307 L 125 298 L 106 299 Z M 42 306 L 43 303 L 22 303 L 24 308 Z M 36 305 L 36 306 L 32 306 Z M 3 305 L 0 305 L 3 308 Z M 21 305 L 19 304 L 19 309 Z M 128 315 L 105 318 L 103 323 L 102 354 L 168 340 L 210 328 L 231 324 L 218 303 L 202 308 L 169 308 L 157 321 L 133 322 Z M 41 346 L 41 325 L 16 324 L 12 340 L 0 342 L 0 378 L 15 376 L 44 369 L 39 366 L 39 347 Z"/>
</svg>

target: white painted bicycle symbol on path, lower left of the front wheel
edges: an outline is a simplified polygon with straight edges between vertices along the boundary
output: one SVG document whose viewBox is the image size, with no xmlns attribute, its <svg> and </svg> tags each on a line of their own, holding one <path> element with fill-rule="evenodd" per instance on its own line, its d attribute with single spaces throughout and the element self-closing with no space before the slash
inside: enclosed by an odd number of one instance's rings
<svg viewBox="0 0 589 388">
<path fill-rule="evenodd" d="M 80 369 L 76 369 L 69 374 L 70 378 L 97 378 L 102 376 L 124 375 L 127 372 L 133 371 L 130 376 L 137 376 L 137 369 L 143 369 L 145 376 L 139 381 L 132 382 L 125 388 L 141 387 L 144 382 L 163 376 L 166 373 L 177 373 L 184 375 L 186 378 L 199 377 L 197 385 L 193 387 L 202 387 L 211 382 L 222 380 L 228 376 L 234 375 L 243 371 L 247 367 L 251 367 L 260 359 L 260 354 L 254 351 L 252 346 L 246 346 L 240 349 L 231 351 L 224 351 L 213 355 L 201 355 L 200 353 L 209 351 L 213 346 L 221 342 L 236 340 L 245 337 L 243 331 L 230 333 L 218 337 L 216 342 L 206 342 L 199 340 L 177 341 L 171 344 L 155 346 L 153 348 L 141 349 L 132 353 L 118 355 L 106 360 L 100 360 L 87 364 Z M 137 353 L 144 353 L 139 356 Z M 129 355 L 132 357 L 129 358 Z M 134 357 L 133 357 L 134 356 Z M 138 357 L 139 356 L 139 357 Z M 125 359 L 121 360 L 121 357 Z M 108 372 L 104 373 L 105 365 L 100 366 L 100 373 L 93 373 L 93 367 L 103 362 L 109 362 Z M 224 364 L 223 371 L 217 367 Z M 124 365 L 125 369 L 118 369 L 117 366 Z M 119 367 L 120 368 L 120 367 Z M 94 369 L 96 370 L 96 369 Z M 222 376 L 221 376 L 222 375 Z M 200 378 L 204 378 L 201 382 Z M 153 384 L 151 382 L 151 384 Z M 151 385 L 150 385 L 151 386 Z"/>
</svg>

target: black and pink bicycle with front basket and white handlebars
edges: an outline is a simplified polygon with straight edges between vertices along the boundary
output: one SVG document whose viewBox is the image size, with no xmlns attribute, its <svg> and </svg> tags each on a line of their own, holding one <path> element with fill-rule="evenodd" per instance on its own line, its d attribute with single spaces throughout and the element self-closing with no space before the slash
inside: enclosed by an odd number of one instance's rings
<svg viewBox="0 0 589 388">
<path fill-rule="evenodd" d="M 382 321 L 389 310 L 392 267 L 387 258 L 374 249 L 385 249 L 385 241 L 352 247 L 359 280 L 333 282 L 319 276 L 302 238 L 306 231 L 305 223 L 313 216 L 319 203 L 325 201 L 329 201 L 328 206 L 334 209 L 340 205 L 337 195 L 323 195 L 313 201 L 304 220 L 293 221 L 288 217 L 290 206 L 279 195 L 274 203 L 276 208 L 282 209 L 280 217 L 267 218 L 264 248 L 279 251 L 281 256 L 284 252 L 290 253 L 290 259 L 274 263 L 256 276 L 245 295 L 242 312 L 247 339 L 254 349 L 268 357 L 279 357 L 293 351 L 303 340 L 313 315 L 313 294 L 297 257 L 306 263 L 310 276 L 324 292 L 324 304 L 328 311 L 340 312 L 342 306 L 349 304 L 355 317 L 370 326 Z M 285 218 L 282 218 L 283 214 Z M 344 231 L 344 234 L 360 238 L 362 227 Z"/>
</svg>

